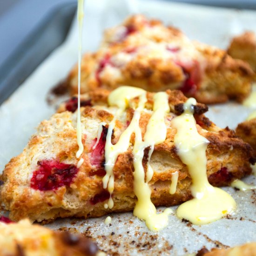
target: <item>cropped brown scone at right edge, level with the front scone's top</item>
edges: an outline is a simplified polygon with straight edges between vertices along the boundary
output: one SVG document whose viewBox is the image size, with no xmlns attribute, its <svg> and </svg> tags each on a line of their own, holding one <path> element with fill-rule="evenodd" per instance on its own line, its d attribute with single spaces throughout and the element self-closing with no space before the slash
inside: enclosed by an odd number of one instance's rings
<svg viewBox="0 0 256 256">
<path fill-rule="evenodd" d="M 256 118 L 238 124 L 236 134 L 252 146 L 256 155 Z"/>
</svg>

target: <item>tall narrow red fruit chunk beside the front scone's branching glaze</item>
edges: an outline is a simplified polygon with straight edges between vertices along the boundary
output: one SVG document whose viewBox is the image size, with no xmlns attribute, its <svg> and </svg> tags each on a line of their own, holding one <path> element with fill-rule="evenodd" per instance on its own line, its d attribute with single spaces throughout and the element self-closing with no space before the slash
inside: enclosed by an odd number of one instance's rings
<svg viewBox="0 0 256 256">
<path fill-rule="evenodd" d="M 106 138 L 108 134 L 108 128 L 102 126 L 101 137 L 99 139 L 98 144 L 95 148 L 92 147 L 92 152 L 90 155 L 91 164 L 96 167 L 96 171 L 91 172 L 91 175 L 99 175 L 104 176 L 106 171 L 104 169 L 105 165 L 105 145 L 106 145 Z M 95 145 L 97 138 L 93 141 L 93 146 Z"/>
</svg>

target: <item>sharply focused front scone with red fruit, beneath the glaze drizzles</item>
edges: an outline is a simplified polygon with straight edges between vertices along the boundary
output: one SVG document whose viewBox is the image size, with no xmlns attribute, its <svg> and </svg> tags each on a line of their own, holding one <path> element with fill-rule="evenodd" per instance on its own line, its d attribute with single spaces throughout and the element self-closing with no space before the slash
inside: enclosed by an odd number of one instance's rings
<svg viewBox="0 0 256 256">
<path fill-rule="evenodd" d="M 167 137 L 163 143 L 155 145 L 150 160 L 154 175 L 149 187 L 152 191 L 151 200 L 156 206 L 176 205 L 191 198 L 191 179 L 186 165 L 177 155 L 174 145 L 176 130 L 171 127 L 171 120 L 183 112 L 183 103 L 187 98 L 181 91 L 167 90 L 166 93 L 170 108 L 164 118 Z M 33 221 L 43 221 L 67 216 L 102 216 L 134 208 L 134 135 L 131 136 L 128 151 L 120 154 L 115 162 L 115 189 L 112 194 L 114 207 L 104 207 L 109 198 L 108 190 L 103 189 L 102 185 L 108 124 L 115 116 L 112 133 L 112 143 L 115 144 L 135 113 L 133 108 L 127 108 L 117 116 L 118 108 L 108 106 L 108 94 L 103 89 L 85 96 L 88 106 L 81 108 L 84 145 L 81 157 L 84 162 L 80 168 L 77 168 L 78 159 L 75 156 L 78 150 L 77 115 L 71 111 L 57 113 L 49 120 L 42 121 L 24 151 L 6 165 L 2 175 L 4 184 L 1 186 L 1 200 L 5 208 L 10 210 L 11 219 L 28 217 Z M 152 115 L 154 95 L 147 93 L 146 109 L 141 112 L 139 124 L 142 138 Z M 130 106 L 136 106 L 138 101 L 138 98 L 134 98 Z M 66 106 L 70 107 L 70 104 L 71 101 Z M 194 107 L 198 132 L 210 141 L 206 152 L 208 179 L 215 186 L 229 185 L 232 180 L 251 172 L 253 150 L 249 144 L 237 138 L 233 131 L 218 128 L 209 121 L 203 115 L 207 109 L 203 104 Z M 102 131 L 95 147 L 100 127 Z M 145 149 L 142 163 L 146 172 L 147 160 L 148 149 Z M 178 172 L 178 182 L 176 192 L 171 195 L 169 187 L 175 172 Z"/>
</svg>

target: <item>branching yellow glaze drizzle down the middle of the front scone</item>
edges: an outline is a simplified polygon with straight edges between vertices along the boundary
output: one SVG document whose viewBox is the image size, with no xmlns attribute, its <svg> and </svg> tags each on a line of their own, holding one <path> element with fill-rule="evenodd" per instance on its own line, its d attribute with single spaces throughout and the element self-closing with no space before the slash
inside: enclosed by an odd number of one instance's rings
<svg viewBox="0 0 256 256">
<path fill-rule="evenodd" d="M 154 146 L 162 143 L 166 139 L 167 128 L 164 122 L 166 113 L 169 112 L 168 95 L 164 92 L 156 93 L 154 96 L 153 114 L 148 121 L 147 130 L 144 135 L 144 141 L 141 136 L 141 128 L 139 126 L 141 111 L 144 109 L 147 102 L 146 92 L 140 88 L 120 87 L 114 90 L 108 97 L 110 106 L 118 106 L 120 113 L 130 105 L 129 101 L 135 97 L 139 97 L 139 104 L 135 108 L 134 116 L 128 128 L 121 134 L 119 141 L 113 145 L 111 143 L 112 131 L 115 127 L 115 119 L 111 121 L 108 126 L 108 135 L 105 146 L 105 170 L 106 175 L 103 177 L 103 187 L 110 195 L 114 190 L 114 175 L 113 168 L 117 156 L 127 151 L 130 143 L 130 137 L 135 134 L 135 144 L 133 148 L 134 155 L 134 192 L 138 198 L 134 209 L 134 215 L 145 220 L 146 225 L 150 230 L 159 230 L 168 224 L 168 214 L 172 211 L 166 209 L 163 213 L 157 214 L 155 205 L 151 202 L 151 190 L 148 182 L 153 176 L 153 169 L 151 168 L 148 159 L 148 170 L 146 182 L 144 168 L 142 166 L 142 159 L 144 156 L 144 149 L 150 148 L 149 158 L 154 150 Z M 119 113 L 119 114 L 120 114 Z M 106 207 L 112 208 L 114 205 L 111 197 L 108 200 Z"/>
</svg>

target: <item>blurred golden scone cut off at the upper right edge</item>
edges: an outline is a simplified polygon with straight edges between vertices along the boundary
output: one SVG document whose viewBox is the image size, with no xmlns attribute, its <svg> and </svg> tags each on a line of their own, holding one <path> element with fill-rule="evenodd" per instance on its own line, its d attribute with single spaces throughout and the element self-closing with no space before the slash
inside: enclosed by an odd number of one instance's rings
<svg viewBox="0 0 256 256">
<path fill-rule="evenodd" d="M 256 35 L 251 31 L 246 31 L 234 37 L 228 48 L 228 54 L 234 59 L 248 62 L 256 72 Z"/>
</svg>

